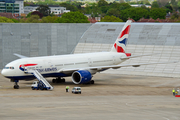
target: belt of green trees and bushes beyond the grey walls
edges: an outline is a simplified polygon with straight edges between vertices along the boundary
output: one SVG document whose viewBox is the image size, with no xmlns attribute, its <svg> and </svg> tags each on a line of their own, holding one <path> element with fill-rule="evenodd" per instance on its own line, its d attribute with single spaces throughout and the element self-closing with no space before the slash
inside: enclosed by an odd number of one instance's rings
<svg viewBox="0 0 180 120">
<path fill-rule="evenodd" d="M 132 4 L 142 4 L 141 7 L 131 7 Z M 53 0 L 38 1 L 37 3 L 25 2 L 28 5 L 40 5 L 37 11 L 29 13 L 26 18 L 16 19 L 1 19 L 1 22 L 32 22 L 32 23 L 88 23 L 88 19 L 84 14 L 90 14 L 91 17 L 101 17 L 101 21 L 126 21 L 129 18 L 138 21 L 141 18 L 165 19 L 167 13 L 173 13 L 171 20 L 179 20 L 179 14 L 176 12 L 180 9 L 180 0 L 157 0 L 149 3 L 148 0 L 140 0 L 138 2 L 120 2 L 108 3 L 105 0 L 99 0 L 98 3 L 86 3 L 85 7 L 81 7 L 84 3 L 67 1 L 55 2 Z M 70 10 L 69 13 L 64 13 L 61 17 L 50 14 L 50 9 L 47 5 L 60 5 Z M 146 8 L 145 5 L 151 5 L 151 8 Z"/>
</svg>

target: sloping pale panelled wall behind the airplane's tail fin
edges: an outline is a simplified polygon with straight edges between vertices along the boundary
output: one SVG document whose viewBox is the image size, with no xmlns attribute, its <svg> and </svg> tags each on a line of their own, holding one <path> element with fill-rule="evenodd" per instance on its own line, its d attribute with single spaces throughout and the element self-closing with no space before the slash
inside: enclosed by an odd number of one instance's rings
<svg viewBox="0 0 180 120">
<path fill-rule="evenodd" d="M 96 23 L 83 35 L 75 53 L 109 51 L 124 23 Z M 127 44 L 132 55 L 159 53 L 129 59 L 123 64 L 180 61 L 179 23 L 132 23 Z M 124 67 L 107 73 L 180 77 L 180 62 L 176 64 L 145 65 L 138 68 Z"/>
</svg>

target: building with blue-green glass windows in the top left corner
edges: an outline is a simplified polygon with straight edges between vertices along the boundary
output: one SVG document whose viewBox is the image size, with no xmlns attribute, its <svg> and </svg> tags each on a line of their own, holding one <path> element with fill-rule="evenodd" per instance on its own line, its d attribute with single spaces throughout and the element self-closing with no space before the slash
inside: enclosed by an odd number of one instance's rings
<svg viewBox="0 0 180 120">
<path fill-rule="evenodd" d="M 0 0 L 0 12 L 19 16 L 24 13 L 24 0 Z"/>
</svg>

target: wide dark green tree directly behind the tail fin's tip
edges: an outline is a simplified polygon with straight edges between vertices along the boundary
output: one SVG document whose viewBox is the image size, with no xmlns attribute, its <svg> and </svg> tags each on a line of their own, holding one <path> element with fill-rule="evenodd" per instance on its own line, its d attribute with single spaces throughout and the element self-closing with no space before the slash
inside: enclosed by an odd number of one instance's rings
<svg viewBox="0 0 180 120">
<path fill-rule="evenodd" d="M 126 21 L 128 18 L 132 18 L 138 21 L 141 18 L 149 18 L 149 11 L 143 8 L 129 8 L 120 12 L 120 19 Z"/>
</svg>

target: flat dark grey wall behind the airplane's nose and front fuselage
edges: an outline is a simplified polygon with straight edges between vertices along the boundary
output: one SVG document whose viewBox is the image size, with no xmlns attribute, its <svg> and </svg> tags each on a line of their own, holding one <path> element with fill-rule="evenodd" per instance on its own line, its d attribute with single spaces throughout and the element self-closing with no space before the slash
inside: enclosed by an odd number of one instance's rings
<svg viewBox="0 0 180 120">
<path fill-rule="evenodd" d="M 0 69 L 24 56 L 46 56 L 71 53 L 83 33 L 92 24 L 0 24 Z"/>
</svg>

